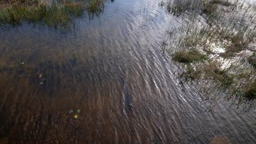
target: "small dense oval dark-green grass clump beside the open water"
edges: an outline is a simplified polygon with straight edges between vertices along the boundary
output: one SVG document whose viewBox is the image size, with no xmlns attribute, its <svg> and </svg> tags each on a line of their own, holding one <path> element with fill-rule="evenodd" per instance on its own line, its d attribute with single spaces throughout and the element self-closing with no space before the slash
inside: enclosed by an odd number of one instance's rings
<svg viewBox="0 0 256 144">
<path fill-rule="evenodd" d="M 194 61 L 202 61 L 206 59 L 205 55 L 202 55 L 198 51 L 181 51 L 174 53 L 173 60 L 181 63 L 191 63 Z"/>
</svg>

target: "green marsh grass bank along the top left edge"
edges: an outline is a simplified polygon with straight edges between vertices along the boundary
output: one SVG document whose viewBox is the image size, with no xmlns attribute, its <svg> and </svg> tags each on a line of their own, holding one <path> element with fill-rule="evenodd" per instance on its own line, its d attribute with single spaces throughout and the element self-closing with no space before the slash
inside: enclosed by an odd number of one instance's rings
<svg viewBox="0 0 256 144">
<path fill-rule="evenodd" d="M 0 25 L 19 25 L 22 21 L 42 23 L 52 27 L 67 27 L 84 10 L 98 15 L 103 1 L 4 1 L 0 10 Z"/>
</svg>

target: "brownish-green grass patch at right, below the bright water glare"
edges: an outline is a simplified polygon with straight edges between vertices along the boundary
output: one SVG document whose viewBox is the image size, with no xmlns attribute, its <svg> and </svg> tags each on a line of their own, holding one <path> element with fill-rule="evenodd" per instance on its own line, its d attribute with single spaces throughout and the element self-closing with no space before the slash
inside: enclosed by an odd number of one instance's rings
<svg viewBox="0 0 256 144">
<path fill-rule="evenodd" d="M 201 83 L 201 92 L 205 94 L 205 99 L 218 100 L 218 95 L 224 94 L 224 99 L 232 100 L 232 104 L 239 106 L 256 98 L 255 69 L 240 62 L 224 68 L 223 63 L 214 59 L 202 63 L 188 63 L 180 76 L 185 81 Z"/>
</svg>

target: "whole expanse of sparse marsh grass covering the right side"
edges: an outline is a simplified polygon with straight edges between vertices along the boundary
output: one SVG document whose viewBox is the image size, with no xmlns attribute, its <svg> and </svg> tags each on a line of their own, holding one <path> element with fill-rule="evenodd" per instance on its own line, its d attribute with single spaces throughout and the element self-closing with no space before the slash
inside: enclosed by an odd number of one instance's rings
<svg viewBox="0 0 256 144">
<path fill-rule="evenodd" d="M 205 100 L 224 98 L 238 106 L 252 106 L 256 98 L 256 5 L 244 1 L 171 0 L 159 6 L 184 19 L 181 26 L 168 31 L 172 48 L 165 47 L 174 61 L 185 63 L 179 76 L 197 82 Z"/>
</svg>

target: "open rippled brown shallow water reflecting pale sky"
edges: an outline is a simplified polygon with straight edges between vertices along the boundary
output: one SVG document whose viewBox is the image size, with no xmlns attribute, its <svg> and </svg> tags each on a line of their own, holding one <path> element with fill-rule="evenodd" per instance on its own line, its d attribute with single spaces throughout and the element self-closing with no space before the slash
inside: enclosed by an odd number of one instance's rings
<svg viewBox="0 0 256 144">
<path fill-rule="evenodd" d="M 66 33 L 2 31 L 0 143 L 256 143 L 256 111 L 207 112 L 178 79 L 161 47 L 182 20 L 158 3 L 109 2 Z"/>
</svg>

